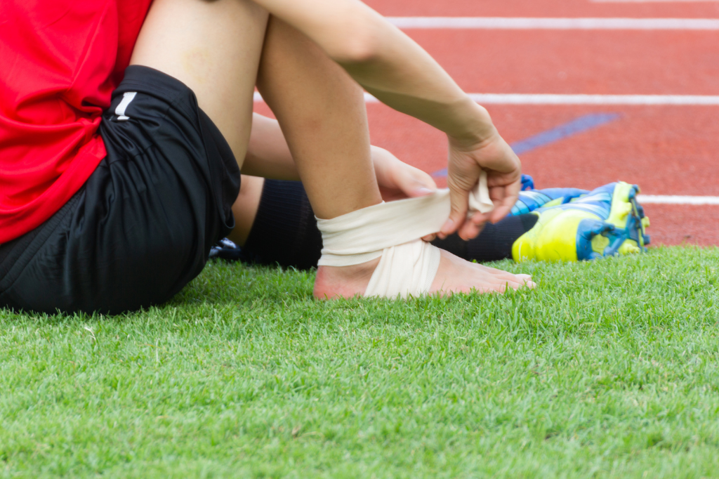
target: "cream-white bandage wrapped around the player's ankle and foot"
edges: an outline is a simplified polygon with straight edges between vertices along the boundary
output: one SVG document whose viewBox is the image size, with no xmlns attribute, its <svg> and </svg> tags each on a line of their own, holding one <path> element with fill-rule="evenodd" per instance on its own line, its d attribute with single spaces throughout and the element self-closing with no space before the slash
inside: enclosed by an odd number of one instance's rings
<svg viewBox="0 0 719 479">
<path fill-rule="evenodd" d="M 365 296 L 395 298 L 429 291 L 439 268 L 439 249 L 420 238 L 436 233 L 451 209 L 449 190 L 390 201 L 333 219 L 317 219 L 322 233 L 320 266 L 350 266 L 382 257 Z M 487 175 L 470 193 L 470 213 L 492 211 Z"/>
</svg>

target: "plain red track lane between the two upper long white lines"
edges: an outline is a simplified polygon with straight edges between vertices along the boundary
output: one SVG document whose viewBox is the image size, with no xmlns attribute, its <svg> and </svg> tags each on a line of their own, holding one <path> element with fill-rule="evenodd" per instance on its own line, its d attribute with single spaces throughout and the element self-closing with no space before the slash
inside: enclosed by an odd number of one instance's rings
<svg viewBox="0 0 719 479">
<path fill-rule="evenodd" d="M 719 31 L 407 33 L 465 91 L 719 95 Z"/>
</svg>

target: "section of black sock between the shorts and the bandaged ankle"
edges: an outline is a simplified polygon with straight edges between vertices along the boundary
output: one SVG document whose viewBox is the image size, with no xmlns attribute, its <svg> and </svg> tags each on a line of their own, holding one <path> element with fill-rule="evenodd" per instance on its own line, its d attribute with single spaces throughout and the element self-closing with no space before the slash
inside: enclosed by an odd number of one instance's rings
<svg viewBox="0 0 719 479">
<path fill-rule="evenodd" d="M 265 180 L 257 216 L 242 250 L 256 263 L 298 269 L 317 265 L 322 235 L 301 182 Z"/>
</svg>

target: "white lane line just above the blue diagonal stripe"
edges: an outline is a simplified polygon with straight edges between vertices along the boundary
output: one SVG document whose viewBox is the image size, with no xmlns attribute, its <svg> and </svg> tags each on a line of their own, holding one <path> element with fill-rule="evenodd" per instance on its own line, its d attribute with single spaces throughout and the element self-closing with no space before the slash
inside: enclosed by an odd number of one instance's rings
<svg viewBox="0 0 719 479">
<path fill-rule="evenodd" d="M 507 105 L 679 105 L 719 106 L 719 95 L 559 95 L 534 93 L 469 93 L 479 104 Z M 255 101 L 262 101 L 255 91 Z M 367 103 L 378 100 L 365 93 Z"/>
</svg>

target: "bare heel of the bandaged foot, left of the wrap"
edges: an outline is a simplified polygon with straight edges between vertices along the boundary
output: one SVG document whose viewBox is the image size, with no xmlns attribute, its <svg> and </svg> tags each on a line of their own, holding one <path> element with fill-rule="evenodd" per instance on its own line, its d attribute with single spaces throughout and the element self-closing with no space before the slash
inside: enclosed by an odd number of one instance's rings
<svg viewBox="0 0 719 479">
<path fill-rule="evenodd" d="M 319 266 L 314 296 L 319 299 L 363 296 L 380 258 L 352 266 Z"/>
</svg>

